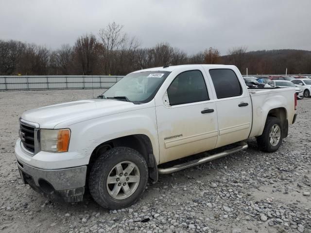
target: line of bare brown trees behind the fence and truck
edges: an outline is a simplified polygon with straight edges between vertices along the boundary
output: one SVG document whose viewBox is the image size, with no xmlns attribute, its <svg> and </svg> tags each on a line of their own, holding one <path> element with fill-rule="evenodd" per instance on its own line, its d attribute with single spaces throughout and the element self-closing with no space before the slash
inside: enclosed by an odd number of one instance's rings
<svg viewBox="0 0 311 233">
<path fill-rule="evenodd" d="M 109 23 L 97 35 L 85 34 L 73 46 L 57 50 L 15 40 L 0 40 L 0 75 L 125 75 L 149 67 L 183 64 L 230 64 L 242 74 L 311 73 L 311 51 L 230 48 L 221 56 L 216 48 L 189 55 L 169 43 L 142 48 L 123 25 Z"/>
</svg>

